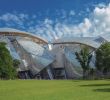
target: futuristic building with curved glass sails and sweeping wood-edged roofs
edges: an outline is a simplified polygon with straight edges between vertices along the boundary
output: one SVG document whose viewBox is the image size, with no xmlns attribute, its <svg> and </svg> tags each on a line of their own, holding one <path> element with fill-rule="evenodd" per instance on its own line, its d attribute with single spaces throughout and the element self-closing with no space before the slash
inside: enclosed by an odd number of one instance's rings
<svg viewBox="0 0 110 100">
<path fill-rule="evenodd" d="M 72 79 L 82 77 L 82 68 L 75 52 L 88 46 L 93 53 L 90 62 L 95 67 L 94 51 L 110 35 L 97 37 L 70 37 L 48 43 L 42 37 L 11 28 L 0 28 L 0 42 L 6 42 L 13 59 L 20 61 L 18 77 L 21 79 Z"/>
</svg>

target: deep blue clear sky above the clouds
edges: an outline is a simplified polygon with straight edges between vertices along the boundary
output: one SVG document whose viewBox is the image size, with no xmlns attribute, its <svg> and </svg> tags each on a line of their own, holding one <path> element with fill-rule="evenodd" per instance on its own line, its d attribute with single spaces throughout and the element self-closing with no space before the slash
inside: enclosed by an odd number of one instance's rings
<svg viewBox="0 0 110 100">
<path fill-rule="evenodd" d="M 0 0 L 0 13 L 17 12 L 36 14 L 39 19 L 43 20 L 45 17 L 56 19 L 63 16 L 63 11 L 69 13 L 74 10 L 76 16 L 80 12 L 85 12 L 89 8 L 93 10 L 94 6 L 99 3 L 109 3 L 109 0 Z M 59 14 L 58 14 L 59 13 Z M 75 18 L 77 18 L 74 16 Z M 77 20 L 81 20 L 79 17 Z"/>
</svg>

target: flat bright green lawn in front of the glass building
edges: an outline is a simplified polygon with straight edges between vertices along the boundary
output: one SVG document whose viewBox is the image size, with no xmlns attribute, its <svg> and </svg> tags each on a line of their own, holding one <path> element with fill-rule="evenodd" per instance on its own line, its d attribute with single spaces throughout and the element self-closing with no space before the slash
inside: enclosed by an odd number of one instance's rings
<svg viewBox="0 0 110 100">
<path fill-rule="evenodd" d="M 0 100 L 110 100 L 110 80 L 0 81 Z"/>
</svg>

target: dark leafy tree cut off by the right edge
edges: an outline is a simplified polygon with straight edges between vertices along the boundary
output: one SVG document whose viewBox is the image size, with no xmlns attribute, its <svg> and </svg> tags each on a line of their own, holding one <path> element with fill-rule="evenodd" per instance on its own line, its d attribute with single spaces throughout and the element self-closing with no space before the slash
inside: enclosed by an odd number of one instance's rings
<svg viewBox="0 0 110 100">
<path fill-rule="evenodd" d="M 103 43 L 96 50 L 96 68 L 102 73 L 110 70 L 110 43 Z"/>
</svg>

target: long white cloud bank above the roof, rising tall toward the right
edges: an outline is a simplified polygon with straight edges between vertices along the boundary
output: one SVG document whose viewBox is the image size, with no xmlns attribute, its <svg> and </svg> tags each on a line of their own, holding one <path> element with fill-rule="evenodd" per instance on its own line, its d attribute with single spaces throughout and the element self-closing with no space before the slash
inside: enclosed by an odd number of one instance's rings
<svg viewBox="0 0 110 100">
<path fill-rule="evenodd" d="M 109 33 L 110 6 L 100 6 L 95 7 L 93 12 L 90 13 L 90 17 L 84 18 L 83 22 L 77 25 L 61 23 L 58 20 L 54 24 L 53 20 L 46 18 L 41 25 L 37 25 L 37 27 L 28 31 L 32 32 L 34 30 L 36 34 L 45 34 L 45 37 L 50 40 L 60 38 L 63 35 L 90 37 Z"/>
</svg>

